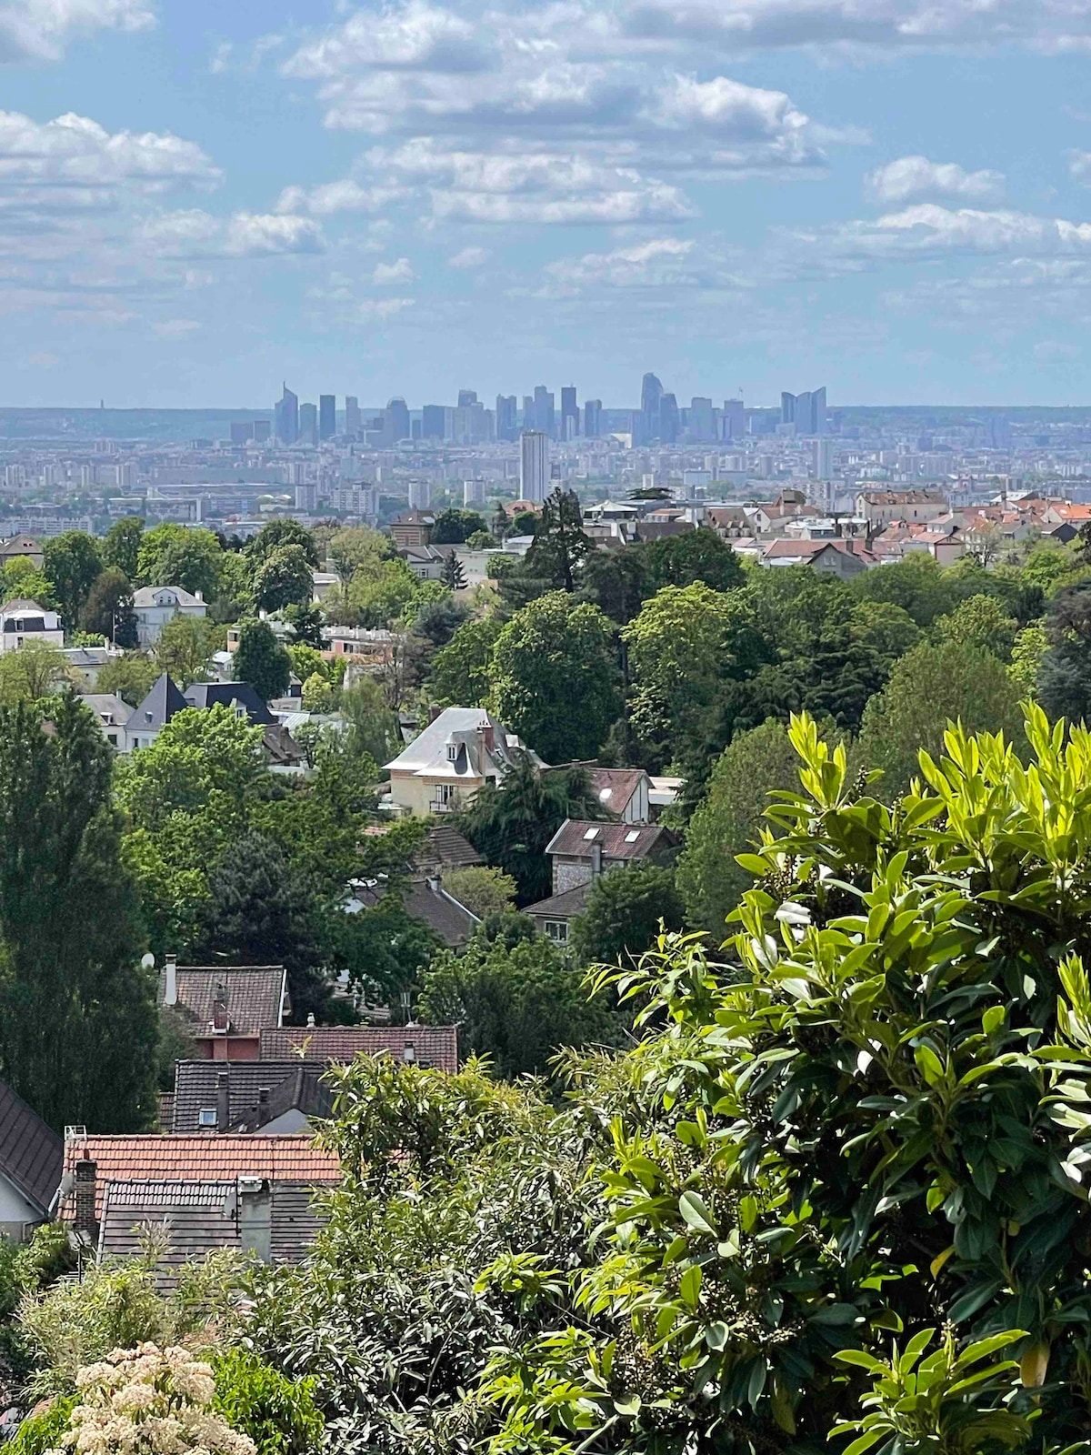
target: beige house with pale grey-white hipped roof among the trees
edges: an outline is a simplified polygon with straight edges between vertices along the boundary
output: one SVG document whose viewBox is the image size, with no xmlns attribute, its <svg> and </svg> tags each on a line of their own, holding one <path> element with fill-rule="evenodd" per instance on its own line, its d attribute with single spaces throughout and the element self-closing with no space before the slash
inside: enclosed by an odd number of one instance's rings
<svg viewBox="0 0 1091 1455">
<path fill-rule="evenodd" d="M 521 752 L 544 767 L 483 707 L 447 707 L 387 764 L 391 808 L 399 813 L 451 813 L 486 783 L 499 783 Z"/>
</svg>

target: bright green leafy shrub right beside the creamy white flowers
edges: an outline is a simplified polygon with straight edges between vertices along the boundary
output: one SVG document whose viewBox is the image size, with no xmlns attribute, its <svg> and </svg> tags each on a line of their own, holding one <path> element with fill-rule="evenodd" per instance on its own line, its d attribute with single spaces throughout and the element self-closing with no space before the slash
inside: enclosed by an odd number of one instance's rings
<svg viewBox="0 0 1091 1455">
<path fill-rule="evenodd" d="M 314 1408 L 314 1379 L 289 1379 L 250 1349 L 212 1359 L 212 1408 L 249 1435 L 257 1455 L 304 1455 L 321 1443 L 323 1419 Z"/>
</svg>

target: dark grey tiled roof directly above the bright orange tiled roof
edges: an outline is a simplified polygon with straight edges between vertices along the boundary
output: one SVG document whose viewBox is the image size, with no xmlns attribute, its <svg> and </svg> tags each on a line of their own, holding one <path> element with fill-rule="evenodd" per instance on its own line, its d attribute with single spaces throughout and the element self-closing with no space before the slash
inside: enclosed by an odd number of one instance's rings
<svg viewBox="0 0 1091 1455">
<path fill-rule="evenodd" d="M 305 1116 L 329 1116 L 332 1097 L 321 1085 L 320 1061 L 176 1061 L 175 1132 L 208 1132 L 201 1112 L 218 1110 L 220 1077 L 227 1078 L 227 1126 L 255 1132 L 292 1107 Z M 262 1093 L 268 1093 L 262 1100 Z"/>
</svg>

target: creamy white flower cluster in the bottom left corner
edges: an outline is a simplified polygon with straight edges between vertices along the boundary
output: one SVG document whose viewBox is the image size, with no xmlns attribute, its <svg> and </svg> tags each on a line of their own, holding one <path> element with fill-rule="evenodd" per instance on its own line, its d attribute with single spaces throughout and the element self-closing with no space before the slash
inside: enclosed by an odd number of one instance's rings
<svg viewBox="0 0 1091 1455">
<path fill-rule="evenodd" d="M 212 1371 L 188 1349 L 115 1349 L 76 1376 L 80 1403 L 47 1455 L 256 1455 L 209 1406 Z"/>
</svg>

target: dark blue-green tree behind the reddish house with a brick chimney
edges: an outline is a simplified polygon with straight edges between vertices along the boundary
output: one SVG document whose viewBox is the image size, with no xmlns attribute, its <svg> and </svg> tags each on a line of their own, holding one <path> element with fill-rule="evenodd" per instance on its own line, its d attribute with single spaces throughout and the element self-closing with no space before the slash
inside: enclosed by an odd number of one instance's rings
<svg viewBox="0 0 1091 1455">
<path fill-rule="evenodd" d="M 308 886 L 263 834 L 228 842 L 208 876 L 196 952 L 201 963 L 284 965 L 292 1017 L 305 1023 L 329 1000 Z"/>
</svg>

